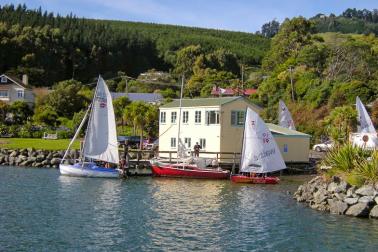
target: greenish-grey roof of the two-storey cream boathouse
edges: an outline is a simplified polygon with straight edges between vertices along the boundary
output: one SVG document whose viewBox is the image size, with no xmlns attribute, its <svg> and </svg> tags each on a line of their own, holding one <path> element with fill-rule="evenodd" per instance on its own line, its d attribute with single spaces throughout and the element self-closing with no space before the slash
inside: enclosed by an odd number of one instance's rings
<svg viewBox="0 0 378 252">
<path fill-rule="evenodd" d="M 182 99 L 181 107 L 200 107 L 200 106 L 221 106 L 238 99 L 244 99 L 241 96 L 216 97 L 216 98 L 194 98 Z M 180 100 L 173 100 L 167 104 L 160 106 L 161 108 L 176 108 L 180 106 Z"/>
</svg>

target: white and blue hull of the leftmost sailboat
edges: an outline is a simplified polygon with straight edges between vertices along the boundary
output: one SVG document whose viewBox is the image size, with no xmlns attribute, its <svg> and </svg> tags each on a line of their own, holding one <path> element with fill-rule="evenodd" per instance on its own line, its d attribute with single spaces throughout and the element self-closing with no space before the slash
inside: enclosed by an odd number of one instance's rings
<svg viewBox="0 0 378 252">
<path fill-rule="evenodd" d="M 119 172 L 115 169 L 94 168 L 94 167 L 79 167 L 69 164 L 59 165 L 60 174 L 73 177 L 92 177 L 92 178 L 118 178 Z"/>
</svg>

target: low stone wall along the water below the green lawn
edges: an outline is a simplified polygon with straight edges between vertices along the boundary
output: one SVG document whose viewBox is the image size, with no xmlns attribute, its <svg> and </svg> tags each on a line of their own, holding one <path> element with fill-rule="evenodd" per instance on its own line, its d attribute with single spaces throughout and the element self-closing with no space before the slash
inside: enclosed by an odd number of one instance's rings
<svg viewBox="0 0 378 252">
<path fill-rule="evenodd" d="M 64 150 L 49 151 L 27 149 L 0 149 L 0 165 L 31 166 L 31 167 L 53 167 L 58 168 L 64 155 Z M 70 150 L 67 159 L 79 157 L 79 151 Z"/>
</svg>

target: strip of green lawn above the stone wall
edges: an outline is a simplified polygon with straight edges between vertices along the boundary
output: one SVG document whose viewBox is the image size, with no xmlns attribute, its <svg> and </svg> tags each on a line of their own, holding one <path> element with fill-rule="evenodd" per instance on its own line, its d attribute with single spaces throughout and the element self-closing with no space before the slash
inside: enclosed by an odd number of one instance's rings
<svg viewBox="0 0 378 252">
<path fill-rule="evenodd" d="M 42 150 L 65 150 L 71 139 L 45 140 L 39 138 L 0 138 L 0 148 L 23 149 L 34 148 Z M 76 140 L 71 149 L 79 149 L 80 142 Z"/>
</svg>

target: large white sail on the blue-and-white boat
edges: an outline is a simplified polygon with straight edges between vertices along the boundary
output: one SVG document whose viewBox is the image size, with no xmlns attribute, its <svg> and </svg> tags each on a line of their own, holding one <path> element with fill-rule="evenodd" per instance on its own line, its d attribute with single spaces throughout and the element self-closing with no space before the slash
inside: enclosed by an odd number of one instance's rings
<svg viewBox="0 0 378 252">
<path fill-rule="evenodd" d="M 92 113 L 84 142 L 84 156 L 110 163 L 119 162 L 112 97 L 105 81 L 98 78 Z"/>
</svg>

